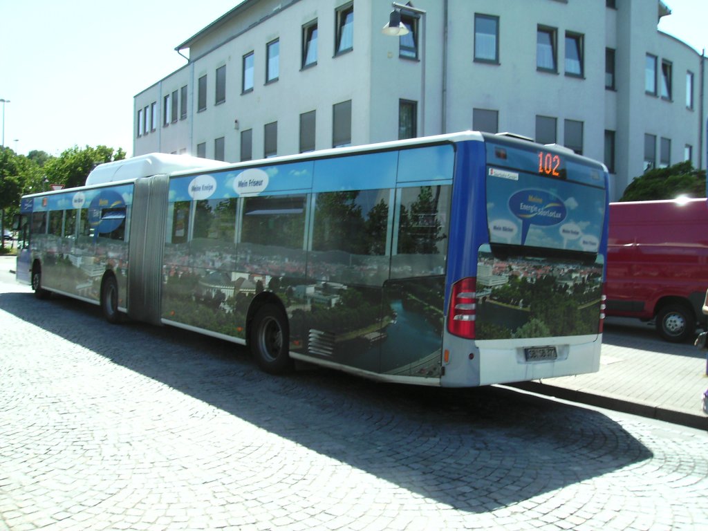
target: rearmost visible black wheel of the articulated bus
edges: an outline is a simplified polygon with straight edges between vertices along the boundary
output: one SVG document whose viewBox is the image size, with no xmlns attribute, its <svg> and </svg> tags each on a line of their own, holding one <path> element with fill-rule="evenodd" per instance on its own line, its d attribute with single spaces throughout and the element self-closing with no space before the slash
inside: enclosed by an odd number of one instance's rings
<svg viewBox="0 0 708 531">
<path fill-rule="evenodd" d="M 262 370 L 272 375 L 292 370 L 287 316 L 279 307 L 265 304 L 258 309 L 251 324 L 250 340 L 251 353 Z"/>
</svg>

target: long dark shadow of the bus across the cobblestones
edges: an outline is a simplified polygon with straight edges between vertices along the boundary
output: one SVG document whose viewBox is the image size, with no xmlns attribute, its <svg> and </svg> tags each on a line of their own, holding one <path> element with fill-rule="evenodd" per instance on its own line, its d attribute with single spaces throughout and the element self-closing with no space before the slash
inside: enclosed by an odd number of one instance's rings
<svg viewBox="0 0 708 531">
<path fill-rule="evenodd" d="M 72 299 L 6 293 L 0 309 L 170 392 L 469 513 L 552 497 L 652 457 L 603 413 L 512 389 L 379 384 L 315 367 L 275 377 L 246 348 L 169 327 L 112 326 Z M 125 400 L 129 422 L 136 406 L 130 393 Z"/>
</svg>

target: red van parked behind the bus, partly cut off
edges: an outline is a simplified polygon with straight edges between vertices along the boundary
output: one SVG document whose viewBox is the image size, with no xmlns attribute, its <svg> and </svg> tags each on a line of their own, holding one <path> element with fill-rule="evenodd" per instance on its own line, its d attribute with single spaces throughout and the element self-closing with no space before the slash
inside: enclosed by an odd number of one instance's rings
<svg viewBox="0 0 708 531">
<path fill-rule="evenodd" d="M 607 315 L 656 319 L 668 341 L 705 326 L 706 199 L 610 203 Z"/>
</svg>

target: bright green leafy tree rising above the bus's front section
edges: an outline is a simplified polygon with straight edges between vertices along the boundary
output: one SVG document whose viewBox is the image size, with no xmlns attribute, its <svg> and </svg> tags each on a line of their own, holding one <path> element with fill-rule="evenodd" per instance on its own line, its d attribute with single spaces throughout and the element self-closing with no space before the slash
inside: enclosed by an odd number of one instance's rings
<svg viewBox="0 0 708 531">
<path fill-rule="evenodd" d="M 122 159 L 125 159 L 125 152 L 120 147 L 115 151 L 112 147 L 105 146 L 86 146 L 84 149 L 74 146 L 56 158 L 47 160 L 44 174 L 47 183 L 72 188 L 84 185 L 86 177 L 98 164 Z"/>
</svg>

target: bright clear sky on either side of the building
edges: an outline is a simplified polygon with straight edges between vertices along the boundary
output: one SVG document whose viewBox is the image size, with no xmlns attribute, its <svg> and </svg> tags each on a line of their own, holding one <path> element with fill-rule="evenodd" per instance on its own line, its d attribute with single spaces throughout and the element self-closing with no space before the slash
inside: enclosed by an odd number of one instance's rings
<svg viewBox="0 0 708 531">
<path fill-rule="evenodd" d="M 182 67 L 174 48 L 240 2 L 0 0 L 5 145 L 57 155 L 103 144 L 132 155 L 133 96 Z M 665 3 L 673 14 L 659 28 L 708 51 L 708 0 Z"/>
</svg>

